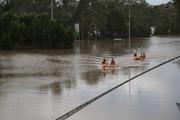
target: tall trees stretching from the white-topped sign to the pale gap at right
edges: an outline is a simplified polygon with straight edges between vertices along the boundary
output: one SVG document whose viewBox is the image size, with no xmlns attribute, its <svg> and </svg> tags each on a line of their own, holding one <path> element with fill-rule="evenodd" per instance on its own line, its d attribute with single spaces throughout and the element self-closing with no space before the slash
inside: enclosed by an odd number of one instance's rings
<svg viewBox="0 0 180 120">
<path fill-rule="evenodd" d="M 81 25 L 81 38 L 94 34 L 101 38 L 127 38 L 131 9 L 131 36 L 148 37 L 151 34 L 150 7 L 144 0 L 84 0 L 77 8 Z"/>
</svg>

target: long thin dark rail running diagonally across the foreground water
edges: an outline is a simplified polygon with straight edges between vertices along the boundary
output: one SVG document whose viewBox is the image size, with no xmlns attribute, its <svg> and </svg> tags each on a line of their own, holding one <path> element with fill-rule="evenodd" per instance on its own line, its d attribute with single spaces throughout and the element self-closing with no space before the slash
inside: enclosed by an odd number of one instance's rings
<svg viewBox="0 0 180 120">
<path fill-rule="evenodd" d="M 161 63 L 161 64 L 158 64 L 158 65 L 156 65 L 156 66 L 154 66 L 154 67 L 152 67 L 152 68 L 150 68 L 150 69 L 148 69 L 148 70 L 146 70 L 146 71 L 144 71 L 144 72 L 142 72 L 142 73 L 140 73 L 140 74 L 138 74 L 138 75 L 130 78 L 129 80 L 127 80 L 127 81 L 125 81 L 125 82 L 123 82 L 123 83 L 121 83 L 121 84 L 119 84 L 119 85 L 117 85 L 117 86 L 115 86 L 115 87 L 113 87 L 113 88 L 105 91 L 104 93 L 102 93 L 102 94 L 94 97 L 93 99 L 91 99 L 91 100 L 89 100 L 89 101 L 87 101 L 87 102 L 85 102 L 85 103 L 77 106 L 76 108 L 72 109 L 71 111 L 65 113 L 64 115 L 62 115 L 61 117 L 59 117 L 59 118 L 57 118 L 57 119 L 55 119 L 55 120 L 65 120 L 65 119 L 67 119 L 68 117 L 70 117 L 70 116 L 72 116 L 73 114 L 75 114 L 76 112 L 82 110 L 83 108 L 85 108 L 85 107 L 88 106 L 89 104 L 95 102 L 96 100 L 98 100 L 99 98 L 103 97 L 104 95 L 110 93 L 111 91 L 115 90 L 116 88 L 118 88 L 118 87 L 120 87 L 120 86 L 122 86 L 122 85 L 124 85 L 124 84 L 126 84 L 126 83 L 128 83 L 128 82 L 130 82 L 130 81 L 132 81 L 132 80 L 134 80 L 135 78 L 137 78 L 137 77 L 139 77 L 139 76 L 141 76 L 141 75 L 143 75 L 143 74 L 145 74 L 145 73 L 147 73 L 147 72 L 150 72 L 150 71 L 152 71 L 152 70 L 154 70 L 154 69 L 156 69 L 156 68 L 158 68 L 158 67 L 160 67 L 160 66 L 162 66 L 162 65 L 164 65 L 164 64 L 167 64 L 167 63 L 169 63 L 169 62 L 171 62 L 171 61 L 173 61 L 173 60 L 176 60 L 176 59 L 178 59 L 178 58 L 180 58 L 180 56 L 171 58 L 171 59 L 169 59 L 169 60 L 167 60 L 167 61 L 165 61 L 165 62 L 163 62 L 163 63 Z"/>
</svg>

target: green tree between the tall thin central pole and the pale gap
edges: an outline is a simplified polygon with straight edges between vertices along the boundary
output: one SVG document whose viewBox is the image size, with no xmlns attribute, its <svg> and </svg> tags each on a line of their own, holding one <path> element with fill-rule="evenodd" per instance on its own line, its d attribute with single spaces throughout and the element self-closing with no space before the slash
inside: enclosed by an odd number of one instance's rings
<svg viewBox="0 0 180 120">
<path fill-rule="evenodd" d="M 131 35 L 148 37 L 151 34 L 151 9 L 144 0 L 137 0 L 131 5 Z"/>
</svg>

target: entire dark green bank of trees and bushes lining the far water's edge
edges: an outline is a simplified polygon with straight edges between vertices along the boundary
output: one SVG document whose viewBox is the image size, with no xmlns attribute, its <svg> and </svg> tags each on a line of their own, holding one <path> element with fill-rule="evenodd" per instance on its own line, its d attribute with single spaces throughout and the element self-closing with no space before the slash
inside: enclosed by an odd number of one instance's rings
<svg viewBox="0 0 180 120">
<path fill-rule="evenodd" d="M 74 24 L 79 38 L 127 38 L 179 34 L 179 1 L 151 6 L 145 0 L 0 0 L 0 48 L 71 48 Z M 169 30 L 169 26 L 171 29 Z"/>
</svg>

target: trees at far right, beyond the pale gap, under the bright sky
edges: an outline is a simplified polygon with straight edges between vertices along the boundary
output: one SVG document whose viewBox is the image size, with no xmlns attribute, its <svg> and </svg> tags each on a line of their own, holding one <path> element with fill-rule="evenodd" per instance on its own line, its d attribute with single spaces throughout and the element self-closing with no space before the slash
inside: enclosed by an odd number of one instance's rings
<svg viewBox="0 0 180 120">
<path fill-rule="evenodd" d="M 156 34 L 158 35 L 172 35 L 180 34 L 179 20 L 176 3 L 169 2 L 164 5 L 154 7 L 156 13 L 155 23 Z"/>
</svg>

